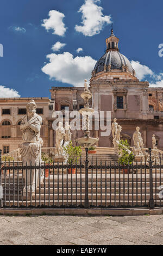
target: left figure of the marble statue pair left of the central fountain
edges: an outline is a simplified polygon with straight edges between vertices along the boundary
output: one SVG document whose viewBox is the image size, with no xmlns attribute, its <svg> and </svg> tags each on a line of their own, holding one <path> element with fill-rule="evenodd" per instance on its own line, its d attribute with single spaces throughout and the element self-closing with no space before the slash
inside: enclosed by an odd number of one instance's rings
<svg viewBox="0 0 163 256">
<path fill-rule="evenodd" d="M 63 124 L 59 122 L 58 127 L 56 129 L 56 137 L 55 137 L 55 147 L 56 147 L 56 155 L 55 156 L 63 156 L 63 142 L 66 136 L 65 129 Z"/>
</svg>

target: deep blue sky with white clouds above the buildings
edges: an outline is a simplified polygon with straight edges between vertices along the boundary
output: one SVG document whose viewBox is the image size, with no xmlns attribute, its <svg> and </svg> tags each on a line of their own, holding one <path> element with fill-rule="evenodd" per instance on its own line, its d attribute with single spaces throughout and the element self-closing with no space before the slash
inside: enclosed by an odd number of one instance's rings
<svg viewBox="0 0 163 256">
<path fill-rule="evenodd" d="M 52 86 L 82 86 L 104 54 L 111 22 L 138 77 L 162 86 L 162 9 L 161 0 L 1 0 L 0 96 L 16 90 L 21 97 L 45 97 Z M 56 42 L 66 45 L 58 50 Z"/>
</svg>

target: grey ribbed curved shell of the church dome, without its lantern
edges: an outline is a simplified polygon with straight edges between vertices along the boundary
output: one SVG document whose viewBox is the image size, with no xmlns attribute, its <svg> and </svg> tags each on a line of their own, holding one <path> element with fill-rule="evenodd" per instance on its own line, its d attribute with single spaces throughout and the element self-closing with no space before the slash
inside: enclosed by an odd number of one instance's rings
<svg viewBox="0 0 163 256">
<path fill-rule="evenodd" d="M 111 65 L 111 70 L 112 69 L 119 69 L 122 70 L 122 65 L 124 66 L 128 66 L 128 71 L 130 73 L 133 73 L 133 68 L 131 66 L 130 61 L 128 60 L 128 58 L 126 58 L 122 53 L 118 52 L 118 51 L 109 51 L 106 52 L 96 63 L 95 65 L 95 72 L 101 72 L 104 71 L 104 66 L 108 66 Z"/>
</svg>

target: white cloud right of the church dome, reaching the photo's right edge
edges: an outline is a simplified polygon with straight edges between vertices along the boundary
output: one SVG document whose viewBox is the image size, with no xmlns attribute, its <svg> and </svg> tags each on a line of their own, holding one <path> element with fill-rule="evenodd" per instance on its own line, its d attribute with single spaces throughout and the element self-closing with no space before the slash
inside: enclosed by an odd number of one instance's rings
<svg viewBox="0 0 163 256">
<path fill-rule="evenodd" d="M 155 74 L 151 69 L 146 65 L 140 64 L 138 61 L 131 60 L 131 65 L 136 72 L 136 77 L 139 80 L 146 80 L 147 77 L 150 77 L 149 87 L 163 87 L 163 73 Z"/>
</svg>

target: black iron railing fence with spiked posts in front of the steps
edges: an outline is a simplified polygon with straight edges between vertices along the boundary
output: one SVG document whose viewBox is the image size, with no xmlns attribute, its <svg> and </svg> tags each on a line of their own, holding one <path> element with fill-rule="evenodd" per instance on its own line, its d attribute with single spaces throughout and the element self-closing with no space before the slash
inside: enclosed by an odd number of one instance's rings
<svg viewBox="0 0 163 256">
<path fill-rule="evenodd" d="M 90 160 L 87 148 L 84 159 L 71 165 L 2 162 L 0 151 L 0 207 L 162 207 L 162 170 L 151 149 L 148 162 L 127 166 L 96 156 Z"/>
</svg>

